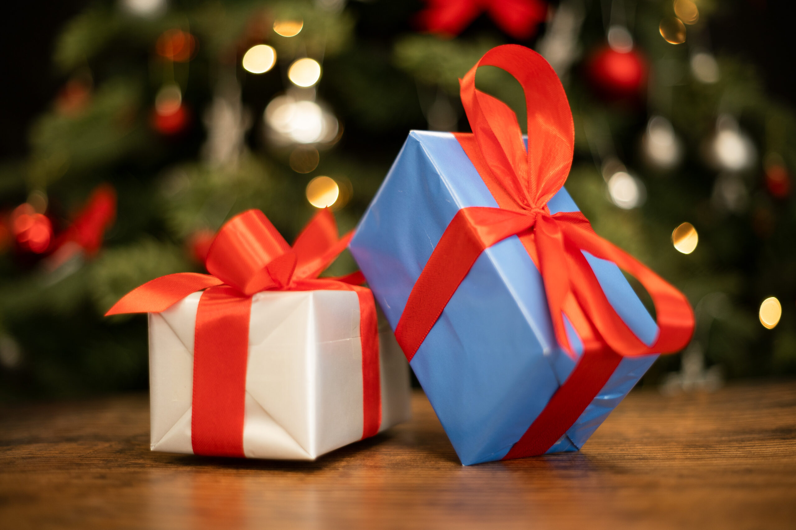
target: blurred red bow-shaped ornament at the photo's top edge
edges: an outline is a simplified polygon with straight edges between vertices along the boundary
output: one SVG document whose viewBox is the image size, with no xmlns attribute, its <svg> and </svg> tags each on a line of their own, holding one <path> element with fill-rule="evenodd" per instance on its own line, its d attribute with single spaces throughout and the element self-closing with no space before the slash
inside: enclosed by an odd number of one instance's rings
<svg viewBox="0 0 796 530">
<path fill-rule="evenodd" d="M 507 35 L 525 40 L 537 33 L 547 17 L 542 0 L 426 0 L 427 8 L 417 14 L 420 29 L 454 36 L 486 11 Z"/>
</svg>

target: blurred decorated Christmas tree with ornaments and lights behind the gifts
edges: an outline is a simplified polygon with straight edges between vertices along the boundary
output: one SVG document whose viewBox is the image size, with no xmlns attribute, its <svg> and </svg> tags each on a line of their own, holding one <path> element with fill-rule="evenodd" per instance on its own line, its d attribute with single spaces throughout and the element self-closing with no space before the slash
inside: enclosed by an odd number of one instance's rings
<svg viewBox="0 0 796 530">
<path fill-rule="evenodd" d="M 350 230 L 408 130 L 468 130 L 458 77 L 523 44 L 564 83 L 567 188 L 598 234 L 681 288 L 692 344 L 669 388 L 796 372 L 796 121 L 712 49 L 714 0 L 96 2 L 64 27 L 64 84 L 0 167 L 0 399 L 146 386 L 146 322 L 103 319 L 154 277 L 203 271 L 262 209 Z M 478 86 L 524 126 L 516 80 Z M 330 273 L 347 273 L 341 257 Z M 643 293 L 642 293 L 643 296 Z M 724 376 L 721 375 L 724 374 Z M 668 375 L 667 375 L 668 374 Z"/>
</svg>

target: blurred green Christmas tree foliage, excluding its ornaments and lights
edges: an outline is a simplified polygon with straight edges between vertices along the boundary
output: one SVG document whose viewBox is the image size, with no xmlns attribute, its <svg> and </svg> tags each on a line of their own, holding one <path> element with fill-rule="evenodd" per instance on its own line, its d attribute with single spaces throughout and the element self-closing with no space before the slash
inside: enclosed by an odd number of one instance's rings
<svg viewBox="0 0 796 530">
<path fill-rule="evenodd" d="M 47 259 L 0 252 L 0 347 L 13 340 L 21 350 L 18 366 L 0 366 L 0 400 L 141 388 L 145 319 L 101 315 L 146 280 L 201 272 L 188 251 L 198 230 L 217 230 L 232 215 L 259 208 L 291 241 L 315 212 L 304 190 L 320 175 L 340 183 L 347 203 L 337 205 L 335 215 L 341 232 L 352 230 L 408 130 L 427 127 L 432 100 L 450 103 L 459 129 L 466 130 L 458 79 L 508 37 L 486 18 L 451 39 L 412 33 L 408 21 L 418 6 L 411 2 L 349 2 L 341 11 L 323 5 L 170 2 L 159 17 L 135 17 L 117 2 L 99 0 L 64 26 L 54 63 L 64 82 L 79 79 L 88 87 L 87 97 L 68 112 L 53 104 L 29 131 L 29 157 L 0 164 L 0 211 L 10 211 L 30 191 L 47 191 L 48 215 L 62 230 L 92 188 L 109 182 L 118 192 L 119 212 L 96 257 L 53 268 Z M 730 9 L 714 0 L 700 1 L 699 8 L 703 21 L 714 10 Z M 755 68 L 735 57 L 718 57 L 717 83 L 696 81 L 689 70 L 696 48 L 689 47 L 697 39 L 677 46 L 658 33 L 661 17 L 672 15 L 671 2 L 637 2 L 634 9 L 636 50 L 651 72 L 646 106 L 606 101 L 592 89 L 584 67 L 605 44 L 605 28 L 599 2 L 587 2 L 577 37 L 582 53 L 563 78 L 576 128 L 567 189 L 598 234 L 677 285 L 693 305 L 723 293 L 727 307 L 700 324 L 708 362 L 730 377 L 796 373 L 794 193 L 773 198 L 760 160 L 778 153 L 794 174 L 796 118 L 766 94 Z M 298 18 L 303 27 L 296 37 L 271 30 L 275 19 Z M 689 26 L 689 39 L 700 27 Z M 169 29 L 196 38 L 191 60 L 158 56 L 158 37 Z M 276 49 L 277 64 L 266 74 L 248 74 L 240 58 L 261 42 Z M 290 86 L 287 68 L 302 56 L 322 62 L 312 96 L 334 111 L 343 130 L 335 145 L 318 146 L 320 163 L 308 173 L 291 169 L 293 146 L 266 140 L 262 118 L 267 103 Z M 207 110 L 222 96 L 225 77 L 236 79 L 238 118 L 252 126 L 240 153 L 220 161 L 209 158 L 203 145 L 211 128 Z M 151 119 L 158 90 L 171 83 L 181 89 L 189 124 L 169 136 L 156 132 Z M 485 67 L 476 84 L 515 110 L 525 130 L 525 98 L 516 79 Z M 685 158 L 677 168 L 656 168 L 640 154 L 640 137 L 653 114 L 668 118 L 681 138 Z M 743 211 L 722 211 L 712 203 L 719 172 L 705 162 L 704 150 L 720 114 L 735 116 L 759 151 L 755 166 L 740 176 L 748 191 Z M 607 138 L 607 145 L 595 137 Z M 603 151 L 642 181 L 642 207 L 623 210 L 611 202 L 598 167 Z M 700 237 L 688 255 L 671 242 L 673 228 L 684 221 Z M 327 273 L 349 273 L 354 266 L 345 253 Z M 782 321 L 771 331 L 757 319 L 767 296 L 778 296 L 783 305 Z M 678 362 L 676 356 L 661 358 L 649 380 L 677 369 Z"/>
</svg>

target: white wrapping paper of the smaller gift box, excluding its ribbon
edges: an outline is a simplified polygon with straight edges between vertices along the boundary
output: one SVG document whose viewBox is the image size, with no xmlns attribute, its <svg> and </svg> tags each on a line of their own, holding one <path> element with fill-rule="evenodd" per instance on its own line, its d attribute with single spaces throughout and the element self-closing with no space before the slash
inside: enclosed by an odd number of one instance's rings
<svg viewBox="0 0 796 530">
<path fill-rule="evenodd" d="M 149 315 L 151 449 L 193 454 L 193 336 L 201 292 Z M 408 363 L 379 321 L 381 425 L 408 420 Z M 362 437 L 359 300 L 351 291 L 252 297 L 244 412 L 248 458 L 314 460 Z"/>
</svg>

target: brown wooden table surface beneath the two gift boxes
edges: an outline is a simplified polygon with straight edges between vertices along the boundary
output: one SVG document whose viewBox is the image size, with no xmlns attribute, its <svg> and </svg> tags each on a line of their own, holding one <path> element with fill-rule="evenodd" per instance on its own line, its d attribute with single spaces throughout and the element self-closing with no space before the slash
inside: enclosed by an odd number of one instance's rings
<svg viewBox="0 0 796 530">
<path fill-rule="evenodd" d="M 413 407 L 317 462 L 150 452 L 146 395 L 2 408 L 0 528 L 796 528 L 796 381 L 636 391 L 579 453 L 470 467 Z"/>
</svg>

